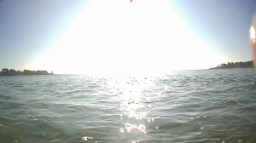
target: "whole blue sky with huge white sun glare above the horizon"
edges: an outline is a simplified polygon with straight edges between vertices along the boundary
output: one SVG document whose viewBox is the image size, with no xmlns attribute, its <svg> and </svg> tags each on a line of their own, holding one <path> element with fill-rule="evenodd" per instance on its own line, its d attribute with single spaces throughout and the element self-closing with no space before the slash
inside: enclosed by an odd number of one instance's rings
<svg viewBox="0 0 256 143">
<path fill-rule="evenodd" d="M 204 69 L 252 60 L 254 0 L 0 1 L 0 68 Z"/>
</svg>

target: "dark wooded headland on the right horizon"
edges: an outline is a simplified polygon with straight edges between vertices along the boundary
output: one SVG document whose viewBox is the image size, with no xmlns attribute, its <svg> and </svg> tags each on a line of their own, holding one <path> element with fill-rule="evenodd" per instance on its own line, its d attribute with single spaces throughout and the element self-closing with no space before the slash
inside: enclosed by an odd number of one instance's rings
<svg viewBox="0 0 256 143">
<path fill-rule="evenodd" d="M 216 67 L 212 67 L 210 69 L 227 69 L 227 68 L 248 68 L 253 67 L 253 60 L 245 61 L 245 62 L 228 62 L 228 64 L 221 64 Z"/>
</svg>

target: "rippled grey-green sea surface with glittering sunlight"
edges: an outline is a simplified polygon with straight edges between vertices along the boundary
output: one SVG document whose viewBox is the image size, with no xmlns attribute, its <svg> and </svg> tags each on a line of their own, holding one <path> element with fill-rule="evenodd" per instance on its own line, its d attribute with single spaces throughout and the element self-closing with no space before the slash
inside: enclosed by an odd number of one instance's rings
<svg viewBox="0 0 256 143">
<path fill-rule="evenodd" d="M 0 77 L 0 142 L 255 143 L 255 72 Z"/>
</svg>

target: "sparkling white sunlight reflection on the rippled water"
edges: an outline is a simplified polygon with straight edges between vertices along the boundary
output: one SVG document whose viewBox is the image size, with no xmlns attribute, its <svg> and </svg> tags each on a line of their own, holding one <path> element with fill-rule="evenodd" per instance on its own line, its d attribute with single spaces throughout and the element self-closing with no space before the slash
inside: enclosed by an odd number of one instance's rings
<svg viewBox="0 0 256 143">
<path fill-rule="evenodd" d="M 121 82 L 122 87 L 118 87 L 117 84 L 110 83 L 112 86 L 115 85 L 113 89 L 123 90 L 123 94 L 120 94 L 120 119 L 123 120 L 125 118 L 125 121 L 128 121 L 128 123 L 124 123 L 125 129 L 119 129 L 121 133 L 124 133 L 126 130 L 127 133 L 131 134 L 131 130 L 133 129 L 137 129 L 143 134 L 147 133 L 143 120 L 148 121 L 148 123 L 151 121 L 154 122 L 154 118 L 147 118 L 147 114 L 150 112 L 151 108 L 151 106 L 147 104 L 150 103 L 150 99 L 152 100 L 152 97 L 142 95 L 142 91 L 147 91 L 150 87 L 155 87 L 155 81 L 156 77 L 129 76 L 125 77 Z M 143 94 L 147 95 L 147 93 Z M 157 99 L 159 97 L 161 97 L 161 93 L 155 93 L 155 98 Z M 149 110 L 145 110 L 146 108 L 149 108 Z M 129 123 L 131 122 L 131 118 L 136 119 L 135 123 Z M 158 129 L 158 127 L 155 127 L 155 129 Z"/>
</svg>

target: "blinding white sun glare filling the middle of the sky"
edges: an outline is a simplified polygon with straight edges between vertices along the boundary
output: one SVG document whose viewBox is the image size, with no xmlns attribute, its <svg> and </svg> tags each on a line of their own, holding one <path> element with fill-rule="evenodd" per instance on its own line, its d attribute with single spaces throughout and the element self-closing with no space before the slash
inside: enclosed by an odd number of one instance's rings
<svg viewBox="0 0 256 143">
<path fill-rule="evenodd" d="M 34 69 L 140 74 L 203 69 L 222 61 L 168 0 L 92 0 Z"/>
</svg>

